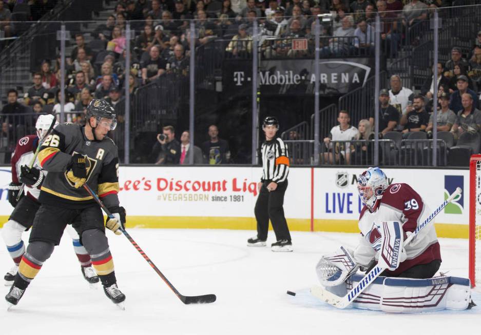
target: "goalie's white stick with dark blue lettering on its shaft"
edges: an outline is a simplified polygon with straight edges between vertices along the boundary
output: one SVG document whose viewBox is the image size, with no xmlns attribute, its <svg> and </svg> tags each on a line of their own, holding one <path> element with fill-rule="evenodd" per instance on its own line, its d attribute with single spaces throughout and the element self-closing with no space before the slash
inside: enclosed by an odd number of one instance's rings
<svg viewBox="0 0 481 335">
<path fill-rule="evenodd" d="M 447 204 L 449 204 L 451 201 L 453 201 L 453 199 L 456 198 L 456 196 L 461 194 L 462 191 L 463 190 L 461 190 L 460 187 L 456 188 L 456 190 L 453 192 L 453 194 L 451 194 L 449 196 L 449 198 L 444 201 L 444 203 L 442 203 L 438 208 L 436 208 L 434 210 L 434 212 L 432 212 L 423 223 L 421 223 L 419 226 L 417 226 L 416 230 L 414 230 L 413 233 L 411 235 L 409 235 L 409 237 L 404 241 L 403 246 L 407 246 L 412 241 L 412 239 L 414 239 L 416 234 L 422 228 L 426 227 L 431 221 L 433 221 L 434 217 L 443 208 L 445 208 Z M 320 286 L 315 286 L 315 287 L 311 288 L 311 293 L 315 297 L 325 301 L 326 303 L 328 303 L 330 305 L 333 305 L 334 307 L 345 308 L 345 307 L 349 306 L 349 304 L 351 304 L 359 296 L 359 294 L 361 294 L 362 291 L 364 291 L 365 288 L 369 286 L 369 284 L 374 282 L 374 280 L 379 276 L 379 274 L 381 274 L 381 272 L 383 270 L 386 270 L 386 268 L 382 268 L 379 265 L 376 265 L 371 271 L 369 271 L 369 273 L 367 273 L 364 276 L 364 278 L 361 279 L 361 281 L 359 281 L 359 284 L 357 284 L 356 287 L 353 287 L 348 292 L 348 294 L 345 295 L 344 297 L 339 297 L 338 295 L 336 295 L 334 293 L 331 293 L 331 292 L 327 291 L 325 288 L 320 287 Z"/>
</svg>

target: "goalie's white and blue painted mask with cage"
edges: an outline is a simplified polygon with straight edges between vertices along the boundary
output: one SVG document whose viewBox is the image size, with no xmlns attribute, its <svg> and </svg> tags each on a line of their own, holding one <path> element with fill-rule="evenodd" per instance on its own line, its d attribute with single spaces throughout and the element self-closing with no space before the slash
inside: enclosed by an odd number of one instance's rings
<svg viewBox="0 0 481 335">
<path fill-rule="evenodd" d="M 371 211 L 378 199 L 382 198 L 382 193 L 388 188 L 386 174 L 378 167 L 365 170 L 357 180 L 357 190 L 362 202 Z"/>
</svg>

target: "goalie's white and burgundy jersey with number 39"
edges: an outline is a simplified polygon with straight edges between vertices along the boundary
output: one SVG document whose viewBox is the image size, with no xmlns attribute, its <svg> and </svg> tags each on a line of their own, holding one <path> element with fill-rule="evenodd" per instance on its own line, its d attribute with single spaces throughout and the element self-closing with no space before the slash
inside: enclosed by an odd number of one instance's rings
<svg viewBox="0 0 481 335">
<path fill-rule="evenodd" d="M 359 245 L 354 251 L 354 258 L 361 265 L 368 265 L 372 259 L 378 259 L 381 246 L 380 225 L 383 221 L 401 223 L 404 239 L 406 232 L 413 232 L 431 214 L 421 196 L 408 184 L 393 184 L 384 191 L 373 212 L 364 206 L 359 216 Z M 406 261 L 389 273 L 396 275 L 415 265 L 428 264 L 441 260 L 439 243 L 434 225 L 421 229 L 413 241 L 405 247 Z"/>
</svg>

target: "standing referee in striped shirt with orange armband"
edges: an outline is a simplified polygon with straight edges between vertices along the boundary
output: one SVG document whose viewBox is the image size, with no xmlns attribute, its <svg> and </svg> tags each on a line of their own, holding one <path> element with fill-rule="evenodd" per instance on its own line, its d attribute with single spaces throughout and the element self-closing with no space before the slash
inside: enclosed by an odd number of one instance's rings
<svg viewBox="0 0 481 335">
<path fill-rule="evenodd" d="M 289 159 L 287 146 L 276 137 L 279 122 L 267 116 L 262 122 L 265 142 L 261 147 L 262 178 L 258 184 L 259 197 L 254 212 L 257 220 L 257 236 L 247 240 L 247 246 L 265 246 L 269 220 L 276 234 L 272 251 L 292 251 L 291 234 L 285 221 L 284 193 L 287 189 Z"/>
</svg>

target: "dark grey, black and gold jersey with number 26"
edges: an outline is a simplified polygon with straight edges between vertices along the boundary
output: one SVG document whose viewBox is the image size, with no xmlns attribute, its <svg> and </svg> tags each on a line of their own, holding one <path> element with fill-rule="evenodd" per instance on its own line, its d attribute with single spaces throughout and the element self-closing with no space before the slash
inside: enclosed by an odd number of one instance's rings
<svg viewBox="0 0 481 335">
<path fill-rule="evenodd" d="M 87 185 L 99 194 L 107 208 L 119 206 L 117 146 L 108 137 L 102 141 L 90 141 L 85 136 L 85 127 L 69 123 L 55 127 L 41 146 L 38 158 L 48 174 L 39 201 L 64 208 L 95 205 L 85 188 L 75 188 L 67 178 L 67 168 L 75 153 L 87 156 Z"/>
</svg>

